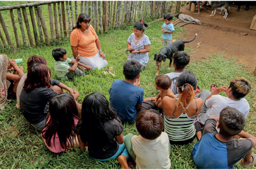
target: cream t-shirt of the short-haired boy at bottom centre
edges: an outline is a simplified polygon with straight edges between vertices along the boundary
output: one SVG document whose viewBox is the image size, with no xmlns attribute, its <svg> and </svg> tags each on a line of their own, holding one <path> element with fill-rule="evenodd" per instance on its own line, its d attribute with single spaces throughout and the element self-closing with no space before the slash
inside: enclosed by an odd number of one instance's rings
<svg viewBox="0 0 256 170">
<path fill-rule="evenodd" d="M 135 135 L 131 142 L 136 169 L 170 169 L 169 138 L 165 132 L 155 140 Z"/>
</svg>

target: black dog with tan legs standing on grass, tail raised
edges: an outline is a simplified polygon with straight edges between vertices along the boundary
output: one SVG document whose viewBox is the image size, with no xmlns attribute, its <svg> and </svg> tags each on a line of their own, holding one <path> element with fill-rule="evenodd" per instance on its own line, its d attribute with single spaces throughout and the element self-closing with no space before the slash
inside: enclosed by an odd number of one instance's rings
<svg viewBox="0 0 256 170">
<path fill-rule="evenodd" d="M 194 39 L 196 39 L 196 36 L 197 34 L 194 36 Z M 176 51 L 184 51 L 185 43 L 192 42 L 193 40 L 190 40 L 190 41 L 177 40 L 171 44 L 166 45 L 165 47 L 162 47 L 160 52 L 155 54 L 155 58 L 154 58 L 154 60 L 156 60 L 156 66 L 158 66 L 156 75 L 158 75 L 160 72 L 161 61 L 165 62 L 166 59 L 168 58 L 170 60 L 168 69 L 170 69 L 170 67 L 172 66 L 173 54 Z"/>
</svg>

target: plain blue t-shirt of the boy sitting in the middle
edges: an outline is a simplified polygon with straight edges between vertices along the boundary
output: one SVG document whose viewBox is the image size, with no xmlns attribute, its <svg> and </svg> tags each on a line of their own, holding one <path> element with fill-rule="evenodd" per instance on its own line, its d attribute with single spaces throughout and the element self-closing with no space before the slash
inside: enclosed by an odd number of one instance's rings
<svg viewBox="0 0 256 170">
<path fill-rule="evenodd" d="M 124 80 L 116 79 L 109 89 L 112 109 L 122 123 L 134 123 L 137 117 L 137 104 L 143 103 L 144 90 Z"/>
</svg>

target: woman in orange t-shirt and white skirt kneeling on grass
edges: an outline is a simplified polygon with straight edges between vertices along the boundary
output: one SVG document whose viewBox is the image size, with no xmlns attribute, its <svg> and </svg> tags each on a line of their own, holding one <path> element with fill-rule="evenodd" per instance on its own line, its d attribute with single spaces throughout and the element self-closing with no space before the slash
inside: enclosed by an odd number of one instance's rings
<svg viewBox="0 0 256 170">
<path fill-rule="evenodd" d="M 104 53 L 101 52 L 100 40 L 90 22 L 91 18 L 87 14 L 78 16 L 76 26 L 70 34 L 72 53 L 75 59 L 81 57 L 81 63 L 90 65 L 92 69 L 101 69 L 108 63 Z"/>
</svg>

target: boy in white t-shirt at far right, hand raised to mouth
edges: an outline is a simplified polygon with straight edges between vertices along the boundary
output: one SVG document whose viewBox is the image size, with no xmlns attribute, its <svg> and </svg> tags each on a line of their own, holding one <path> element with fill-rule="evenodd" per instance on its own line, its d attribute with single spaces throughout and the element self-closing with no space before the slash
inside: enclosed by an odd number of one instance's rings
<svg viewBox="0 0 256 170">
<path fill-rule="evenodd" d="M 216 88 L 212 94 L 206 98 L 204 106 L 206 109 L 201 109 L 198 115 L 198 121 L 204 125 L 208 117 L 220 117 L 220 112 L 225 107 L 234 107 L 241 111 L 245 118 L 250 111 L 250 105 L 245 97 L 251 91 L 251 85 L 246 78 L 234 78 L 230 81 L 229 87 L 222 86 Z M 218 95 L 220 92 L 226 92 L 227 97 Z"/>
</svg>

